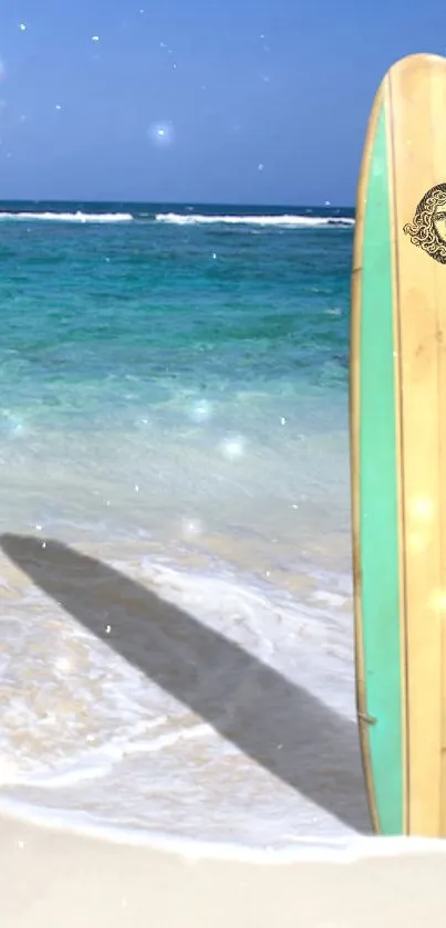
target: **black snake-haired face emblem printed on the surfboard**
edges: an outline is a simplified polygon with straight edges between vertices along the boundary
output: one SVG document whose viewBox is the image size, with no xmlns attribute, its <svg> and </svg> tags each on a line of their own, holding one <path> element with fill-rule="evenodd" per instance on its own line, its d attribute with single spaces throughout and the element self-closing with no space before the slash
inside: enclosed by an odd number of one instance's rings
<svg viewBox="0 0 446 928">
<path fill-rule="evenodd" d="M 446 264 L 446 184 L 437 184 L 424 195 L 412 222 L 406 222 L 403 231 L 411 237 L 412 244 Z"/>
</svg>

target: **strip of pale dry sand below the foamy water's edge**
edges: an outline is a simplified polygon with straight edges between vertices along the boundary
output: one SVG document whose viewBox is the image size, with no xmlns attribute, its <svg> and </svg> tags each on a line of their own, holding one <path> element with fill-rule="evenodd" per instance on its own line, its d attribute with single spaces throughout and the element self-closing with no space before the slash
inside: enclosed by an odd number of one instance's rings
<svg viewBox="0 0 446 928">
<path fill-rule="evenodd" d="M 0 823 L 3 928 L 444 925 L 446 846 L 359 840 L 290 855 L 137 846 Z"/>
</svg>

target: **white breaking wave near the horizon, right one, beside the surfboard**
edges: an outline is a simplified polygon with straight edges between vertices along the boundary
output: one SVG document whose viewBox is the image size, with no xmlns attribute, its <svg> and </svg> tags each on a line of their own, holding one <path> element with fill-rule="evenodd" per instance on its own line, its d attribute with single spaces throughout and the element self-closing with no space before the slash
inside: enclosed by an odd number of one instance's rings
<svg viewBox="0 0 446 928">
<path fill-rule="evenodd" d="M 157 222 L 167 222 L 174 226 L 279 226 L 281 228 L 319 228 L 319 227 L 345 227 L 354 226 L 354 219 L 346 216 L 184 216 L 180 212 L 158 212 L 155 216 Z"/>
</svg>

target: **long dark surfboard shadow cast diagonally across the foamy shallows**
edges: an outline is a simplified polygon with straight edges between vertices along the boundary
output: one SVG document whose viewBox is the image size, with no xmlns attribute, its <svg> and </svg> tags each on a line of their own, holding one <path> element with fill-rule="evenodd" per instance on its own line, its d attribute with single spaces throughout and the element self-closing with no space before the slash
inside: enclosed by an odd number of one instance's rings
<svg viewBox="0 0 446 928">
<path fill-rule="evenodd" d="M 353 722 L 97 560 L 51 539 L 3 534 L 0 546 L 73 618 L 246 755 L 349 827 L 371 831 Z"/>
</svg>

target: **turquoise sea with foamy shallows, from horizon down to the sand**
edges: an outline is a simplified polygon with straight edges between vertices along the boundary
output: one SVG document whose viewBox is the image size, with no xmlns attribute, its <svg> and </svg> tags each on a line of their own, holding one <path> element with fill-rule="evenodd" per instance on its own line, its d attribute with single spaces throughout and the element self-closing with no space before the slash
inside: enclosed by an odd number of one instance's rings
<svg viewBox="0 0 446 928">
<path fill-rule="evenodd" d="M 4 807 L 256 845 L 369 828 L 353 225 L 0 204 Z"/>
</svg>

